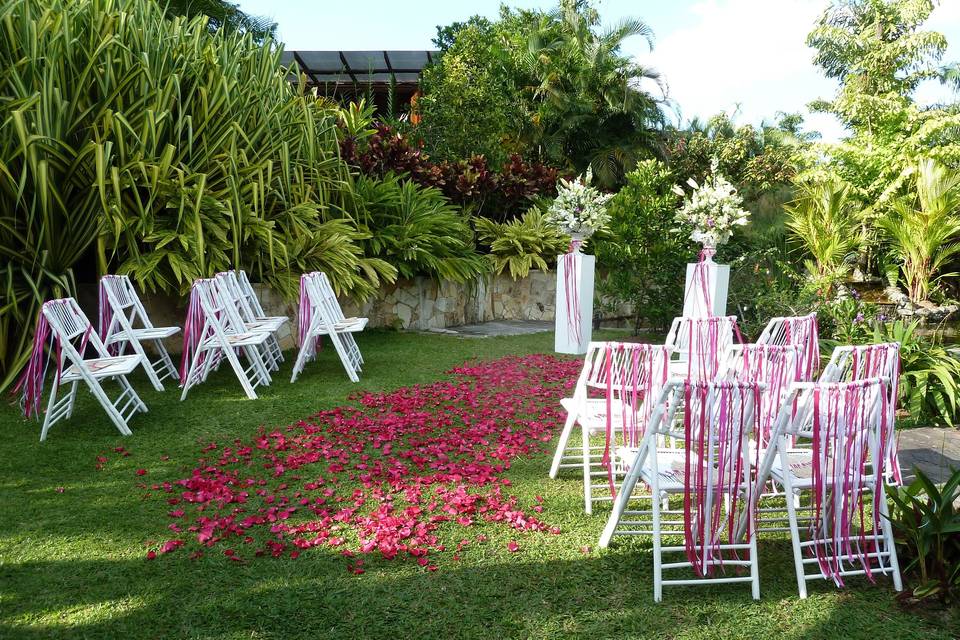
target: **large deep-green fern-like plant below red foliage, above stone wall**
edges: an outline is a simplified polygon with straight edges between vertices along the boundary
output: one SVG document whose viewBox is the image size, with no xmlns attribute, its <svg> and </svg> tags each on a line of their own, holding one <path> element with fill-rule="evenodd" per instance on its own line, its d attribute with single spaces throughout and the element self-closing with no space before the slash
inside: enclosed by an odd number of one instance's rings
<svg viewBox="0 0 960 640">
<path fill-rule="evenodd" d="M 360 176 L 355 189 L 368 255 L 394 265 L 401 276 L 465 282 L 486 270 L 466 217 L 439 190 L 392 174 Z"/>
</svg>

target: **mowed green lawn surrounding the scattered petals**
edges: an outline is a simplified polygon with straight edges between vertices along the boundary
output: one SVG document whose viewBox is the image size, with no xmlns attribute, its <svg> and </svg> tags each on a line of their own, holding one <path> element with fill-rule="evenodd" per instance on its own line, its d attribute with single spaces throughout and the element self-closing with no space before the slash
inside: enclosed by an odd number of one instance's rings
<svg viewBox="0 0 960 640">
<path fill-rule="evenodd" d="M 616 333 L 604 332 L 602 339 Z M 222 369 L 180 402 L 135 378 L 150 407 L 120 436 L 87 394 L 72 420 L 37 442 L 39 424 L 0 408 L 0 637 L 2 638 L 950 638 L 955 615 L 921 618 L 901 610 L 889 580 L 855 580 L 840 591 L 812 583 L 800 600 L 786 539 L 761 541 L 762 600 L 743 585 L 673 588 L 653 602 L 650 543 L 616 539 L 596 549 L 606 508 L 582 511 L 576 474 L 547 478 L 549 455 L 517 460 L 507 477 L 521 505 L 544 499 L 539 517 L 561 535 L 455 525 L 455 544 L 478 533 L 459 562 L 439 556 L 428 572 L 411 561 L 365 557 L 352 575 L 338 550 L 297 559 L 230 562 L 176 552 L 145 559 L 146 545 L 169 537 L 167 505 L 139 481 L 175 481 L 210 441 L 249 439 L 348 402 L 360 390 L 390 390 L 441 379 L 468 358 L 550 352 L 550 333 L 488 339 L 365 332 L 362 381 L 347 381 L 331 349 L 295 385 L 290 356 L 259 400 L 243 397 Z M 172 387 L 168 384 L 168 387 Z M 113 448 L 131 452 L 120 457 Z M 109 459 L 95 469 L 98 455 Z M 162 458 L 169 456 L 168 459 Z M 136 470 L 148 470 L 139 478 Z M 62 492 L 58 490 L 62 488 Z M 445 525 L 446 526 L 446 525 Z M 507 550 L 516 540 L 521 549 Z"/>
</svg>

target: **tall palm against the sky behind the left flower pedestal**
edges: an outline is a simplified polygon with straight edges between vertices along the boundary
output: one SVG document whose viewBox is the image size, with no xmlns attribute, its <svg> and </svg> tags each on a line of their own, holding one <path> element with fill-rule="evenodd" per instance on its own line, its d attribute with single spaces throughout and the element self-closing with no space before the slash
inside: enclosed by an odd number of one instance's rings
<svg viewBox="0 0 960 640">
<path fill-rule="evenodd" d="M 613 187 L 639 159 L 662 155 L 666 88 L 655 70 L 621 54 L 634 36 L 653 48 L 648 25 L 624 18 L 598 31 L 598 21 L 596 11 L 564 0 L 529 25 L 522 60 L 537 105 L 532 134 L 545 154 L 577 171 L 590 167 L 601 186 Z M 641 87 L 645 80 L 661 97 Z"/>
</svg>

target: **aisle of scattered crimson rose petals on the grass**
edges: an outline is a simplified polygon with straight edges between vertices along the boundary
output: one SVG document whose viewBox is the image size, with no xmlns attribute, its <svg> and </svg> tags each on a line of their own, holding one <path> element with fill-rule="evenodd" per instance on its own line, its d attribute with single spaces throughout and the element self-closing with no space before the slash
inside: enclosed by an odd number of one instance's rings
<svg viewBox="0 0 960 640">
<path fill-rule="evenodd" d="M 148 557 L 248 562 L 326 546 L 355 573 L 364 554 L 433 570 L 483 540 L 469 531 L 477 521 L 558 534 L 538 500 L 510 495 L 504 474 L 514 457 L 548 449 L 579 367 L 543 355 L 469 363 L 452 380 L 360 394 L 252 439 L 209 443 L 189 477 L 155 487 L 173 536 Z"/>
</svg>

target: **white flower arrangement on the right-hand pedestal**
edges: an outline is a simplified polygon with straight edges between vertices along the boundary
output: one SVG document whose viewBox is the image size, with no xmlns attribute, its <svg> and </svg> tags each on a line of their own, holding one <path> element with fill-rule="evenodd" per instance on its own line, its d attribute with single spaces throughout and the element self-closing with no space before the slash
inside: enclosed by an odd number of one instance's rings
<svg viewBox="0 0 960 640">
<path fill-rule="evenodd" d="M 676 220 L 693 225 L 691 240 L 716 247 L 730 240 L 734 227 L 747 224 L 750 212 L 744 211 L 743 198 L 733 185 L 717 172 L 716 160 L 702 185 L 692 178 L 687 184 L 693 189 L 689 196 L 679 185 L 673 192 L 683 196 Z"/>
</svg>

